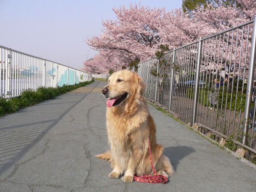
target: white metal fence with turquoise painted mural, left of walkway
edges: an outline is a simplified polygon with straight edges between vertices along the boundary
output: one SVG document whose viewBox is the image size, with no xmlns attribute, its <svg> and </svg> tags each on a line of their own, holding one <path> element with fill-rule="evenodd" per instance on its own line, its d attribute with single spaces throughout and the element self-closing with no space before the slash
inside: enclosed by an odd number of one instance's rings
<svg viewBox="0 0 256 192">
<path fill-rule="evenodd" d="M 20 96 L 23 90 L 62 87 L 92 80 L 92 75 L 47 59 L 0 46 L 0 97 Z"/>
</svg>

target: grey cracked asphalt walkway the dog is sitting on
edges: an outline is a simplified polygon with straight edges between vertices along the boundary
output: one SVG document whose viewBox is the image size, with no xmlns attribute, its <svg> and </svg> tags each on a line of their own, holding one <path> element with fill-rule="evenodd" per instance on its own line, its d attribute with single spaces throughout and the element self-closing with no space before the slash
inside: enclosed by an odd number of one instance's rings
<svg viewBox="0 0 256 192">
<path fill-rule="evenodd" d="M 149 105 L 158 143 L 175 175 L 167 184 L 110 179 L 106 82 L 95 81 L 55 99 L 0 117 L 1 192 L 252 192 L 256 169 Z"/>
</svg>

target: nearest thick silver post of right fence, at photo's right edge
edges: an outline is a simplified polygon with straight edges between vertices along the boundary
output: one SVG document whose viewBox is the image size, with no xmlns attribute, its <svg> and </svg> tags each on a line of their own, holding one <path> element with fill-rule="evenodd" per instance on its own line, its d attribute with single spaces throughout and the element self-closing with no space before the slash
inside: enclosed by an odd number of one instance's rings
<svg viewBox="0 0 256 192">
<path fill-rule="evenodd" d="M 241 139 L 241 143 L 243 143 L 244 145 L 247 144 L 247 137 L 248 137 L 248 125 L 249 125 L 249 121 L 250 121 L 250 106 L 251 106 L 251 99 L 252 99 L 252 94 L 253 94 L 253 79 L 254 79 L 254 71 L 255 71 L 255 61 L 256 61 L 256 15 L 254 15 L 254 17 L 253 17 L 253 34 L 252 34 L 252 41 L 251 41 L 249 72 L 248 72 L 247 90 L 246 90 L 245 106 L 244 106 L 244 121 L 245 122 L 244 122 L 242 139 Z"/>
</svg>

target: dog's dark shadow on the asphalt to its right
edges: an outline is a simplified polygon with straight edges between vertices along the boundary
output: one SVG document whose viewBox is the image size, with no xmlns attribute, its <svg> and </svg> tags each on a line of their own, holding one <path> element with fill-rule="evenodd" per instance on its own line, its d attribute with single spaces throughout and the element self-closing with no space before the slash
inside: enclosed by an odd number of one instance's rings
<svg viewBox="0 0 256 192">
<path fill-rule="evenodd" d="M 170 159 L 175 172 L 179 161 L 193 152 L 195 152 L 195 149 L 189 146 L 175 146 L 164 148 L 164 154 Z"/>
</svg>

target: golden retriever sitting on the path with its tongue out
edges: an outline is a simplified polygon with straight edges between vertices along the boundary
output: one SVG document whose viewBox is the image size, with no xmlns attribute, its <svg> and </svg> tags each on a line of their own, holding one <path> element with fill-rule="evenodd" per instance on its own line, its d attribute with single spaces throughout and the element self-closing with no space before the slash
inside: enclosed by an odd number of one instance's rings
<svg viewBox="0 0 256 192">
<path fill-rule="evenodd" d="M 124 174 L 122 181 L 127 183 L 134 180 L 134 174 L 152 174 L 149 137 L 157 174 L 168 178 L 174 173 L 169 159 L 163 154 L 163 146 L 157 144 L 156 128 L 148 112 L 144 90 L 143 79 L 130 70 L 113 73 L 108 85 L 102 89 L 108 98 L 106 118 L 111 151 L 95 157 L 111 162 L 110 178 Z"/>
</svg>

